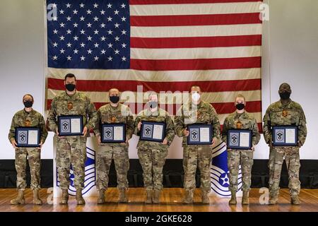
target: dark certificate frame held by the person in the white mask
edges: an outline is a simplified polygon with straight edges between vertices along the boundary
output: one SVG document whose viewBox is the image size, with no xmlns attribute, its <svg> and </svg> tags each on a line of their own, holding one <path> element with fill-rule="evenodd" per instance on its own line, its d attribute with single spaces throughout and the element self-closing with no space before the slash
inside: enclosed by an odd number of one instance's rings
<svg viewBox="0 0 318 226">
<path fill-rule="evenodd" d="M 208 141 L 196 141 L 198 139 L 200 140 L 201 128 L 208 129 Z M 212 144 L 213 126 L 211 124 L 189 124 L 187 125 L 187 130 L 189 131 L 189 136 L 187 136 L 188 145 L 211 145 Z"/>
</svg>

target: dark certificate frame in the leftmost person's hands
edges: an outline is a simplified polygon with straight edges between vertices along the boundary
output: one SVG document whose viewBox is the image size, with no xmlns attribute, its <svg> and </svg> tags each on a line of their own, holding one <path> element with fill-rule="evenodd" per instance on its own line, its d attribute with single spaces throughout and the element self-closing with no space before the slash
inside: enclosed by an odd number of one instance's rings
<svg viewBox="0 0 318 226">
<path fill-rule="evenodd" d="M 29 132 L 30 131 L 37 131 L 37 143 L 36 144 L 28 144 L 29 141 Z M 21 138 L 19 136 L 24 136 L 24 141 L 21 142 Z M 16 133 L 15 133 L 15 140 L 16 140 L 16 147 L 18 148 L 39 148 L 40 147 L 40 136 L 41 131 L 40 128 L 37 127 L 26 127 L 26 126 L 20 126 L 16 127 Z"/>
</svg>

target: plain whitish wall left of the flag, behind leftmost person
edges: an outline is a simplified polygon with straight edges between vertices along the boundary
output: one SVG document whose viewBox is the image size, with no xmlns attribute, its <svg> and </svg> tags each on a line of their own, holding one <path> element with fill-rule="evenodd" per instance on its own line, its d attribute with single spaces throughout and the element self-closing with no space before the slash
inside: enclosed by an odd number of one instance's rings
<svg viewBox="0 0 318 226">
<path fill-rule="evenodd" d="M 34 108 L 44 109 L 45 29 L 42 0 L 1 0 L 0 7 L 0 159 L 13 159 L 8 141 L 13 114 L 23 109 L 22 97 L 31 93 Z M 52 158 L 52 142 L 42 157 Z"/>
</svg>

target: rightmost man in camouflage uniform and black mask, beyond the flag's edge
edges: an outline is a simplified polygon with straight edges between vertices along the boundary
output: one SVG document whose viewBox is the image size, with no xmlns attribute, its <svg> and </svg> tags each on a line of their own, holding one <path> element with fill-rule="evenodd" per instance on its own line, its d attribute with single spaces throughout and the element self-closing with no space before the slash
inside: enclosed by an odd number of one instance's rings
<svg viewBox="0 0 318 226">
<path fill-rule="evenodd" d="M 288 187 L 291 196 L 291 203 L 293 205 L 299 205 L 299 148 L 304 145 L 307 136 L 306 117 L 302 111 L 302 107 L 297 102 L 290 100 L 290 85 L 287 83 L 281 84 L 278 93 L 281 97 L 281 100 L 269 106 L 263 119 L 264 138 L 270 147 L 269 204 L 274 205 L 278 201 L 281 167 L 283 165 L 283 157 L 285 156 L 288 169 Z M 298 146 L 273 146 L 272 126 L 298 126 Z"/>
</svg>

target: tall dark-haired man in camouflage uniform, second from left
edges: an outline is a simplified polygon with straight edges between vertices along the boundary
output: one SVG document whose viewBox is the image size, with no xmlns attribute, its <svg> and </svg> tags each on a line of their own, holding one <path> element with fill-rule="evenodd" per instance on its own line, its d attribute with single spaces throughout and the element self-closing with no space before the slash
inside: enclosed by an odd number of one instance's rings
<svg viewBox="0 0 318 226">
<path fill-rule="evenodd" d="M 49 110 L 48 126 L 54 131 L 57 138 L 57 170 L 62 189 L 60 204 L 67 204 L 69 200 L 69 171 L 73 167 L 74 186 L 76 188 L 76 200 L 78 205 L 85 204 L 82 197 L 85 177 L 86 161 L 86 136 L 90 129 L 95 128 L 97 112 L 90 99 L 83 93 L 78 93 L 76 78 L 73 74 L 67 74 L 64 79 L 66 92 L 63 92 L 52 100 L 52 108 Z M 59 136 L 57 117 L 61 115 L 83 116 L 83 136 Z"/>
</svg>

